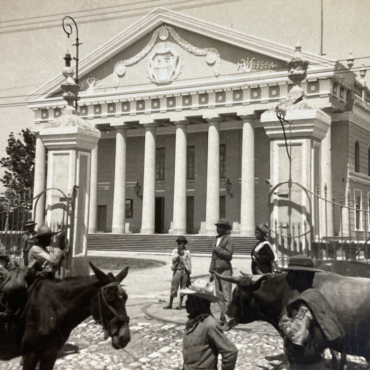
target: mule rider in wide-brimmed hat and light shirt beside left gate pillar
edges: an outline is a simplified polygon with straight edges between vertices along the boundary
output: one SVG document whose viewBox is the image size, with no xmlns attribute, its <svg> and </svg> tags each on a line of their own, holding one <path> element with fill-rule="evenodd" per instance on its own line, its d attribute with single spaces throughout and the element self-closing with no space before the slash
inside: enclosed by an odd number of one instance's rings
<svg viewBox="0 0 370 370">
<path fill-rule="evenodd" d="M 47 247 L 50 246 L 51 238 L 55 234 L 57 232 L 51 231 L 46 225 L 38 228 L 36 234 L 31 237 L 35 240 L 35 244 L 28 252 L 29 266 L 33 266 L 36 261 L 39 261 L 43 265 L 44 271 L 53 272 L 53 266 L 58 265 L 65 248 L 65 245 L 59 243 L 60 248 L 55 247 L 53 252 L 48 252 Z"/>
</svg>

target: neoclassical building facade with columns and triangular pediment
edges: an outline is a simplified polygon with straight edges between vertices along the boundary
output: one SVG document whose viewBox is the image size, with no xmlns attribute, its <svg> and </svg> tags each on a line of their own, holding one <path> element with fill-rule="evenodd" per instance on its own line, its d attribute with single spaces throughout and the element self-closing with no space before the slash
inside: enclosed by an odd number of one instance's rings
<svg viewBox="0 0 370 370">
<path fill-rule="evenodd" d="M 288 189 L 270 204 L 268 193 L 290 167 L 309 191 L 343 204 L 352 196 L 368 210 L 370 93 L 345 65 L 302 51 L 310 63 L 304 102 L 285 117 L 290 165 L 275 107 L 289 100 L 294 53 L 159 8 L 83 58 L 78 111 L 101 132 L 91 152 L 89 232 L 213 235 L 226 217 L 233 233 L 253 235 L 256 224 L 279 219 L 275 205 Z M 64 110 L 62 80 L 28 98 L 40 128 Z M 46 186 L 46 155 L 37 139 L 35 194 Z M 307 213 L 303 193 L 292 189 L 292 199 Z M 293 211 L 303 229 L 307 216 Z M 370 231 L 366 212 L 340 218 L 328 233 Z"/>
</svg>

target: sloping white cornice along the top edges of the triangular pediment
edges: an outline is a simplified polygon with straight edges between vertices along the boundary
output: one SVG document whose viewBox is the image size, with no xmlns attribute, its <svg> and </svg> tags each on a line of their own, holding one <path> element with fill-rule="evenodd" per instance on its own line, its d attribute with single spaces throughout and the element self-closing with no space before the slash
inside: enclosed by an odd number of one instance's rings
<svg viewBox="0 0 370 370">
<path fill-rule="evenodd" d="M 147 35 L 161 24 L 183 28 L 185 30 L 202 34 L 203 36 L 213 38 L 240 48 L 245 48 L 256 53 L 261 53 L 272 58 L 277 58 L 283 61 L 289 61 L 294 53 L 294 48 L 283 44 L 275 43 L 263 38 L 247 35 L 243 32 L 233 30 L 232 28 L 219 26 L 215 23 L 207 22 L 186 14 L 178 13 L 172 10 L 157 8 L 151 13 L 139 19 L 126 30 L 111 38 L 110 41 L 98 47 L 92 53 L 82 58 L 79 63 L 80 79 L 90 71 L 97 68 L 99 65 L 110 60 L 114 55 L 125 50 L 128 46 L 135 43 L 141 37 Z M 325 70 L 333 68 L 336 65 L 336 60 L 323 57 L 318 54 L 302 52 L 303 58 L 314 64 L 310 70 Z M 320 65 L 318 65 L 319 63 Z M 27 101 L 40 101 L 40 98 L 35 96 L 40 95 L 41 99 L 47 98 L 48 95 L 60 91 L 60 85 L 63 83 L 64 77 L 58 74 L 48 83 L 44 84 L 37 90 L 33 91 Z"/>
</svg>

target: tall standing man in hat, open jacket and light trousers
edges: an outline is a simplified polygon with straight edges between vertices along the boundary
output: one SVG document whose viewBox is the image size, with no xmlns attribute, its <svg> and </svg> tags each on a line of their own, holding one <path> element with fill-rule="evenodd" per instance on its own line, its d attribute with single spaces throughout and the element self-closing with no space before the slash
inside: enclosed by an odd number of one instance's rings
<svg viewBox="0 0 370 370">
<path fill-rule="evenodd" d="M 209 266 L 209 272 L 211 273 L 209 277 L 210 282 L 214 280 L 213 272 L 223 276 L 232 276 L 231 260 L 234 252 L 234 240 L 230 236 L 231 226 L 225 218 L 220 218 L 215 225 L 217 227 L 217 236 L 213 240 L 212 246 L 211 266 Z M 221 310 L 221 322 L 223 322 L 223 317 L 231 302 L 231 285 L 230 282 L 225 280 L 215 280 L 216 296 L 219 297 L 218 305 Z"/>
</svg>

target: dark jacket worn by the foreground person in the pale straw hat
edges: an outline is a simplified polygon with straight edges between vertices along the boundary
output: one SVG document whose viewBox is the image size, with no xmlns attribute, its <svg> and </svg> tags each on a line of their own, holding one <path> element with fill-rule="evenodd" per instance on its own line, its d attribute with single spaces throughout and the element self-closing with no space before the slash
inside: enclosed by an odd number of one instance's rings
<svg viewBox="0 0 370 370">
<path fill-rule="evenodd" d="M 217 370 L 221 353 L 222 370 L 235 369 L 238 349 L 223 333 L 211 314 L 199 315 L 186 324 L 183 341 L 184 370 Z"/>
</svg>

